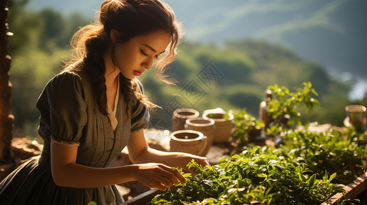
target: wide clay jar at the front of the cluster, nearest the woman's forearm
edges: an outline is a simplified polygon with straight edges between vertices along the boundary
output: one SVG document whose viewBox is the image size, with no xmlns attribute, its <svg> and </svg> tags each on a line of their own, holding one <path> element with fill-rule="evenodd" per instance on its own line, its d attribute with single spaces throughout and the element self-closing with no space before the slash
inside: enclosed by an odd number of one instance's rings
<svg viewBox="0 0 367 205">
<path fill-rule="evenodd" d="M 204 150 L 208 143 L 207 138 L 198 131 L 181 130 L 171 133 L 169 146 L 171 152 L 186 152 L 198 156 L 204 156 Z"/>
</svg>

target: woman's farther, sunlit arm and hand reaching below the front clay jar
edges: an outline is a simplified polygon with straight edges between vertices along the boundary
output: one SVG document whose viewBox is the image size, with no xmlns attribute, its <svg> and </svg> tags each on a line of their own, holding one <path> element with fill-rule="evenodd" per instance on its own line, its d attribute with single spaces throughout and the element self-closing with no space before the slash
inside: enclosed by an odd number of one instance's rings
<svg viewBox="0 0 367 205">
<path fill-rule="evenodd" d="M 191 173 L 193 171 L 187 169 L 186 167 L 187 163 L 189 163 L 191 159 L 194 159 L 203 167 L 209 165 L 209 161 L 205 157 L 182 152 L 162 152 L 149 148 L 147 142 L 145 141 L 143 129 L 130 135 L 128 150 L 132 163 L 163 163 L 170 167 L 180 167 Z"/>
</svg>

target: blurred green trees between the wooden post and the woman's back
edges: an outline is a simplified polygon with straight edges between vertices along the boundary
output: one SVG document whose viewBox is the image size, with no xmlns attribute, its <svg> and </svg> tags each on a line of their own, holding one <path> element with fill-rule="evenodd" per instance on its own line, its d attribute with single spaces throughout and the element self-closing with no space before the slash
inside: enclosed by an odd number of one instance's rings
<svg viewBox="0 0 367 205">
<path fill-rule="evenodd" d="M 25 0 L 10 0 L 8 5 L 9 30 L 14 33 L 8 40 L 12 57 L 12 113 L 15 126 L 25 131 L 14 133 L 15 137 L 38 136 L 36 100 L 47 81 L 60 71 L 62 60 L 68 57 L 66 45 L 74 29 L 87 22 L 78 14 L 66 18 L 50 9 L 25 10 L 26 3 Z"/>
</svg>

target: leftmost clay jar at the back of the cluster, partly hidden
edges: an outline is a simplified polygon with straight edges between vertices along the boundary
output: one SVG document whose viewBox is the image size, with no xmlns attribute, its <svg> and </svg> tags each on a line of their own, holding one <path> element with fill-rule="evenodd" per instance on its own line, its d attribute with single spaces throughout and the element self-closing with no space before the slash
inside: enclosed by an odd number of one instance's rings
<svg viewBox="0 0 367 205">
<path fill-rule="evenodd" d="M 187 119 L 198 117 L 199 117 L 199 111 L 197 111 L 196 109 L 190 109 L 190 108 L 176 109 L 171 118 L 172 130 L 173 131 L 183 130 L 185 129 L 184 126 Z"/>
</svg>

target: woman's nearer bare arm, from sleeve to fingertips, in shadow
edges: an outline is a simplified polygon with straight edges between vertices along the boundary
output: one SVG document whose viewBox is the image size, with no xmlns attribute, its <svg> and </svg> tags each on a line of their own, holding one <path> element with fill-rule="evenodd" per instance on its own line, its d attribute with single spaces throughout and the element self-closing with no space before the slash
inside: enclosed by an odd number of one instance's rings
<svg viewBox="0 0 367 205">
<path fill-rule="evenodd" d="M 178 184 L 177 178 L 185 182 L 185 178 L 177 171 L 156 163 L 108 168 L 79 165 L 75 163 L 77 152 L 77 146 L 62 145 L 51 140 L 51 172 L 58 186 L 94 188 L 139 180 L 149 187 L 165 190 L 165 187 Z"/>
</svg>

